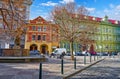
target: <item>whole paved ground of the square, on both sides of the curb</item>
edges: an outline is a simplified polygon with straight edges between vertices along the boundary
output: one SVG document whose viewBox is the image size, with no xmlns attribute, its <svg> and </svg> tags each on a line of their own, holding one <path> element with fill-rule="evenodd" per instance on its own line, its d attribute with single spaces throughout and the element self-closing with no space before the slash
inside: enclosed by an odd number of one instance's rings
<svg viewBox="0 0 120 79">
<path fill-rule="evenodd" d="M 77 57 L 77 69 L 87 66 L 83 64 L 82 59 L 81 56 Z M 62 79 L 61 60 L 56 58 L 48 58 L 48 60 L 42 64 L 42 79 Z M 87 60 L 87 64 L 90 64 L 89 57 Z M 74 70 L 73 63 L 66 57 L 64 74 Z M 120 79 L 119 73 L 120 59 L 107 57 L 70 79 Z M 39 63 L 0 63 L 0 79 L 39 79 Z"/>
</svg>

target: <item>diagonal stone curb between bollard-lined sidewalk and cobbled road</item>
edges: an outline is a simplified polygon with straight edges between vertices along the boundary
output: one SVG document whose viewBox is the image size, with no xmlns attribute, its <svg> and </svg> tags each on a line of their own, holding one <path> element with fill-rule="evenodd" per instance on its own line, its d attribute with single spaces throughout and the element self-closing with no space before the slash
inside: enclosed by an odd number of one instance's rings
<svg viewBox="0 0 120 79">
<path fill-rule="evenodd" d="M 87 68 L 89 68 L 89 67 L 91 67 L 91 66 L 99 63 L 100 61 L 102 61 L 102 60 L 104 60 L 104 59 L 105 59 L 105 58 L 100 59 L 100 60 L 98 60 L 98 61 L 96 61 L 96 62 L 93 62 L 92 64 L 90 64 L 90 65 L 88 65 L 87 67 L 84 67 L 84 68 L 82 68 L 82 69 L 72 71 L 72 73 L 64 74 L 64 75 L 63 75 L 63 79 L 68 79 L 68 78 L 70 78 L 70 77 L 72 77 L 72 76 L 74 76 L 74 75 L 82 72 L 83 70 L 86 70 Z"/>
</svg>

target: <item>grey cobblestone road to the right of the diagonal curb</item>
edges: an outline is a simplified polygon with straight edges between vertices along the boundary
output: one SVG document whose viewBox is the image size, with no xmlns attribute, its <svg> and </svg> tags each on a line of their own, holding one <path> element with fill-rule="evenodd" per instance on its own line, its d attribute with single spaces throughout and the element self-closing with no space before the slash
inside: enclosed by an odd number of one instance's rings
<svg viewBox="0 0 120 79">
<path fill-rule="evenodd" d="M 70 79 L 120 79 L 120 58 L 107 58 Z"/>
</svg>

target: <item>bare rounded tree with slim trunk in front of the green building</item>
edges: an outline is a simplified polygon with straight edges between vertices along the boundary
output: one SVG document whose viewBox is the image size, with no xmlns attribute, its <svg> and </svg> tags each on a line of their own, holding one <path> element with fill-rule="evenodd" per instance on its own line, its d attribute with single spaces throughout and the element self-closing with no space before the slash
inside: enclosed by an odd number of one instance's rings
<svg viewBox="0 0 120 79">
<path fill-rule="evenodd" d="M 94 22 L 89 23 L 87 9 L 77 7 L 75 3 L 55 6 L 51 13 L 53 21 L 59 26 L 60 40 L 69 41 L 71 58 L 74 59 L 73 42 L 87 43 L 89 35 L 95 30 Z"/>
</svg>

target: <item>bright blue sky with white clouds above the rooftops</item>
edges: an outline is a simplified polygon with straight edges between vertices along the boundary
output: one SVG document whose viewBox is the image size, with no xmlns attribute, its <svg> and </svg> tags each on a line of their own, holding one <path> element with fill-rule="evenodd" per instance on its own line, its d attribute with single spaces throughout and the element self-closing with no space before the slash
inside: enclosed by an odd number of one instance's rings
<svg viewBox="0 0 120 79">
<path fill-rule="evenodd" d="M 34 0 L 30 7 L 30 19 L 42 16 L 48 19 L 50 11 L 55 5 L 75 2 L 78 6 L 85 6 L 90 16 L 120 20 L 120 0 Z"/>
</svg>

